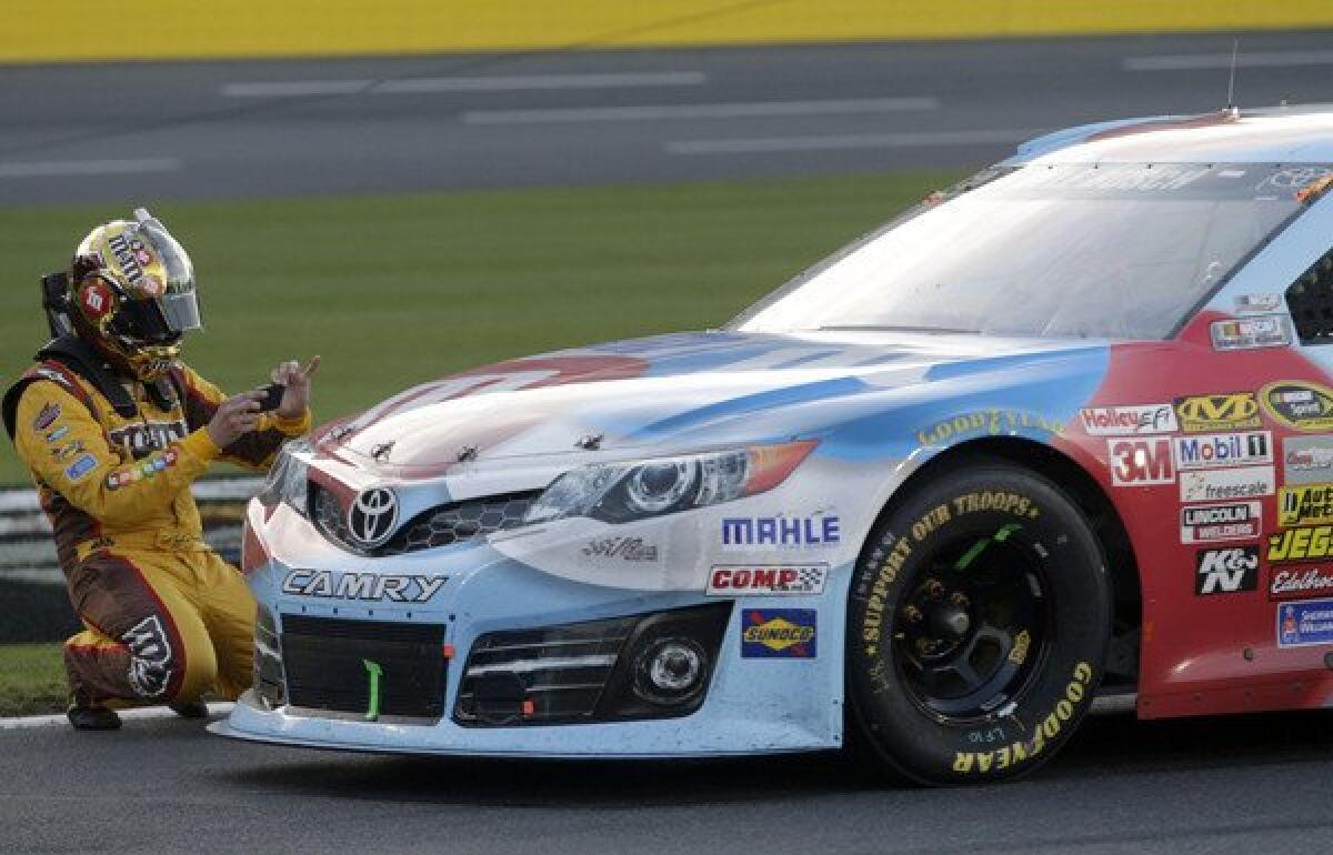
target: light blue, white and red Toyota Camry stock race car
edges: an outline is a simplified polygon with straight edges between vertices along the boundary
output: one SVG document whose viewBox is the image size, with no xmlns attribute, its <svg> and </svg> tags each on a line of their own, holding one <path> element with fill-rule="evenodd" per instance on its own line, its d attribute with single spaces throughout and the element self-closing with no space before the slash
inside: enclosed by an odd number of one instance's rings
<svg viewBox="0 0 1333 855">
<path fill-rule="evenodd" d="M 1073 128 L 722 329 L 328 425 L 248 506 L 213 728 L 973 784 L 1098 697 L 1328 706 L 1330 186 L 1333 109 Z"/>
</svg>

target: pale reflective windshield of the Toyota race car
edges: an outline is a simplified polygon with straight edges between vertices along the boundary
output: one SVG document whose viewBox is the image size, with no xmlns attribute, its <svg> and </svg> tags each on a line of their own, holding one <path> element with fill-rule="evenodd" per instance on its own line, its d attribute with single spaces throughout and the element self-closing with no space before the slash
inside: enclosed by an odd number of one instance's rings
<svg viewBox="0 0 1333 855">
<path fill-rule="evenodd" d="M 1294 217 L 1302 188 L 1329 173 L 1272 164 L 993 169 L 729 326 L 1165 338 Z"/>
</svg>

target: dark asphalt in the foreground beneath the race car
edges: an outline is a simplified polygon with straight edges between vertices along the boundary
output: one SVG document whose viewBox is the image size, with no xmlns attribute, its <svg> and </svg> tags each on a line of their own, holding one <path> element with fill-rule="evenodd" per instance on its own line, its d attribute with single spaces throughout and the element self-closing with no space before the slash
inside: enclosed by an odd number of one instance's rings
<svg viewBox="0 0 1333 855">
<path fill-rule="evenodd" d="M 199 722 L 0 732 L 0 850 L 99 852 L 1297 852 L 1333 834 L 1328 712 L 1088 719 L 980 790 L 833 756 L 555 763 L 237 743 Z"/>
</svg>

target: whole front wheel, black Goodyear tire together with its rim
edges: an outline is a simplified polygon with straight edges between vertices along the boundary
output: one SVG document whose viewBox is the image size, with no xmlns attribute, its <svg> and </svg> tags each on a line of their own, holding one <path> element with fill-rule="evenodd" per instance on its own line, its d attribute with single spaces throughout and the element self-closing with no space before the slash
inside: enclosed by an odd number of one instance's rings
<svg viewBox="0 0 1333 855">
<path fill-rule="evenodd" d="M 1082 511 L 1029 470 L 977 461 L 913 490 L 852 579 L 853 744 L 925 784 L 1036 770 L 1101 682 L 1105 565 Z"/>
</svg>

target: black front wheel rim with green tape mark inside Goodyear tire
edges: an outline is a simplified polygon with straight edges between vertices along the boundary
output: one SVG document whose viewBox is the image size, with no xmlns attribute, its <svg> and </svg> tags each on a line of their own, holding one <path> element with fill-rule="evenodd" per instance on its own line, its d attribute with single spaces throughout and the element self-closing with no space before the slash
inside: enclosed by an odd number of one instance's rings
<svg viewBox="0 0 1333 855">
<path fill-rule="evenodd" d="M 1018 523 L 940 542 L 904 589 L 893 665 L 946 723 L 1004 715 L 1040 673 L 1052 630 L 1041 553 Z"/>
</svg>

